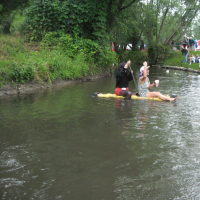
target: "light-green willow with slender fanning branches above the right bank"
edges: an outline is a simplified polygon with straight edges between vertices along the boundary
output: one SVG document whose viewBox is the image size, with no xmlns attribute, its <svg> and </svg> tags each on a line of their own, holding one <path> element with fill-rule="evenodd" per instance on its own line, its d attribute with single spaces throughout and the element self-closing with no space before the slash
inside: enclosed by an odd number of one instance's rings
<svg viewBox="0 0 200 200">
<path fill-rule="evenodd" d="M 163 46 L 179 41 L 197 15 L 197 0 L 150 0 L 143 5 L 142 29 L 148 38 L 150 63 L 157 62 Z"/>
</svg>

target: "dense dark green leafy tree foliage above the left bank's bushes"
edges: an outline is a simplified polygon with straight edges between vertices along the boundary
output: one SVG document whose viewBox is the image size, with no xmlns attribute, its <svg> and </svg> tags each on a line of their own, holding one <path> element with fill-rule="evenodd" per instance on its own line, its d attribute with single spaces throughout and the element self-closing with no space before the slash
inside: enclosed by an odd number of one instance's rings
<svg viewBox="0 0 200 200">
<path fill-rule="evenodd" d="M 59 30 L 84 38 L 103 38 L 108 15 L 106 5 L 106 1 L 36 0 L 28 11 L 26 38 L 41 41 L 46 33 Z"/>
</svg>

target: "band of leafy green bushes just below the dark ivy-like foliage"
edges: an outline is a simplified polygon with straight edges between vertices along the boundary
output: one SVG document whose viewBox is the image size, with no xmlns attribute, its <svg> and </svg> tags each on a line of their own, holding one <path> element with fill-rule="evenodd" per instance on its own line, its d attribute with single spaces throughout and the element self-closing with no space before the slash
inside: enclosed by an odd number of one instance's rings
<svg viewBox="0 0 200 200">
<path fill-rule="evenodd" d="M 47 33 L 42 44 L 44 47 L 51 47 L 70 58 L 75 58 L 82 53 L 85 61 L 93 63 L 93 65 L 95 63 L 95 65 L 105 67 L 117 61 L 116 53 L 110 50 L 108 44 L 102 43 L 99 45 L 91 39 L 78 37 L 74 40 L 69 34 L 65 34 L 62 31 Z"/>
</svg>

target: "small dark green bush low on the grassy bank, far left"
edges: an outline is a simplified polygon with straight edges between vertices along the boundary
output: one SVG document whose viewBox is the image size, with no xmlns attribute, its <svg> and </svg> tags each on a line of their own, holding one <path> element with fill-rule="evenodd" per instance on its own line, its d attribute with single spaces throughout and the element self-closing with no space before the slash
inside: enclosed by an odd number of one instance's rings
<svg viewBox="0 0 200 200">
<path fill-rule="evenodd" d="M 9 75 L 12 81 L 25 83 L 34 78 L 34 68 L 30 65 L 19 66 L 17 63 L 12 63 Z"/>
</svg>

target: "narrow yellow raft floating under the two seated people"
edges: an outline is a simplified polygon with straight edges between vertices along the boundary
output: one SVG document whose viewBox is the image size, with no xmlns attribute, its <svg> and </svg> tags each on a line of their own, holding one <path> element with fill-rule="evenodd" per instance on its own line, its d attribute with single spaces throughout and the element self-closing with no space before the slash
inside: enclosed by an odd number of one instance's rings
<svg viewBox="0 0 200 200">
<path fill-rule="evenodd" d="M 106 93 L 106 94 L 103 94 L 103 93 L 99 93 L 99 92 L 95 92 L 94 93 L 95 96 L 98 96 L 98 97 L 105 97 L 105 98 L 116 98 L 116 99 L 124 99 L 123 96 L 117 96 L 116 94 L 111 94 L 111 93 Z M 175 97 L 177 95 L 165 95 L 166 97 Z M 139 96 L 136 96 L 136 95 L 132 95 L 131 96 L 131 99 L 147 99 L 147 100 L 156 100 L 156 101 L 163 101 L 157 97 L 153 98 L 153 97 L 139 97 Z"/>
</svg>

